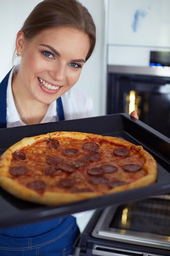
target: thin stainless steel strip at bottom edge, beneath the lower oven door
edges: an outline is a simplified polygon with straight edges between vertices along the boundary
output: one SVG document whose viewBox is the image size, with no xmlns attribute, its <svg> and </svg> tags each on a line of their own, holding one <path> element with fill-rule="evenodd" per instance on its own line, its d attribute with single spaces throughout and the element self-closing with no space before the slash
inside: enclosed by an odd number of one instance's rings
<svg viewBox="0 0 170 256">
<path fill-rule="evenodd" d="M 137 252 L 132 250 L 118 249 L 108 246 L 93 245 L 92 253 L 99 256 L 160 256 L 160 254 L 148 254 L 146 252 Z"/>
</svg>

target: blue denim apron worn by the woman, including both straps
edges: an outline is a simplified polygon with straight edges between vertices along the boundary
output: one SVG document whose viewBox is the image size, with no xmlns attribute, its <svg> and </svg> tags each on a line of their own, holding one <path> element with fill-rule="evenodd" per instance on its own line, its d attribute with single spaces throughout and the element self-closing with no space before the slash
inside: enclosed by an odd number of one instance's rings
<svg viewBox="0 0 170 256">
<path fill-rule="evenodd" d="M 0 128 L 7 127 L 10 72 L 0 83 Z M 64 120 L 61 97 L 57 99 L 57 113 L 59 121 Z M 68 256 L 78 234 L 73 216 L 0 229 L 0 256 Z"/>
</svg>

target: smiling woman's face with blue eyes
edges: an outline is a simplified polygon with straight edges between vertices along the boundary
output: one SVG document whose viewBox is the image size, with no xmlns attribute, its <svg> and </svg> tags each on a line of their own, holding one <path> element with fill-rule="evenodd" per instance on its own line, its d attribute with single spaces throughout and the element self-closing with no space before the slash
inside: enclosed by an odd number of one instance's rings
<svg viewBox="0 0 170 256">
<path fill-rule="evenodd" d="M 49 104 L 75 85 L 90 47 L 88 35 L 62 26 L 42 31 L 31 42 L 22 33 L 17 40 L 22 45 L 18 78 L 24 94 Z"/>
</svg>

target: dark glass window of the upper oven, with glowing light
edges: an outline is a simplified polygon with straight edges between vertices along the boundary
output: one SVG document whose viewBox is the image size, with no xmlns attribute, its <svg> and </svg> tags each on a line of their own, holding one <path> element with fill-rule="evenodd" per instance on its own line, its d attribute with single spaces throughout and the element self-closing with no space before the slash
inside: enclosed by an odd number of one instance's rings
<svg viewBox="0 0 170 256">
<path fill-rule="evenodd" d="M 140 92 L 130 90 L 125 93 L 124 112 L 137 111 L 139 119 L 148 126 L 170 137 L 170 88 L 169 93 Z"/>
</svg>

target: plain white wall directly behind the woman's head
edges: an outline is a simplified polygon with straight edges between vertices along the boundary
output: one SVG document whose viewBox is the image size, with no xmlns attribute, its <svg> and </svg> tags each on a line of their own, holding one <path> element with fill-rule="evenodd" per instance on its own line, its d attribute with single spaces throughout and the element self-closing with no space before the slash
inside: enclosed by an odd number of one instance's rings
<svg viewBox="0 0 170 256">
<path fill-rule="evenodd" d="M 0 81 L 12 67 L 15 36 L 22 23 L 40 0 L 0 0 Z M 92 14 L 97 27 L 97 46 L 93 56 L 84 65 L 76 86 L 93 98 L 94 116 L 103 115 L 103 43 L 104 43 L 104 0 L 80 0 Z"/>
</svg>

